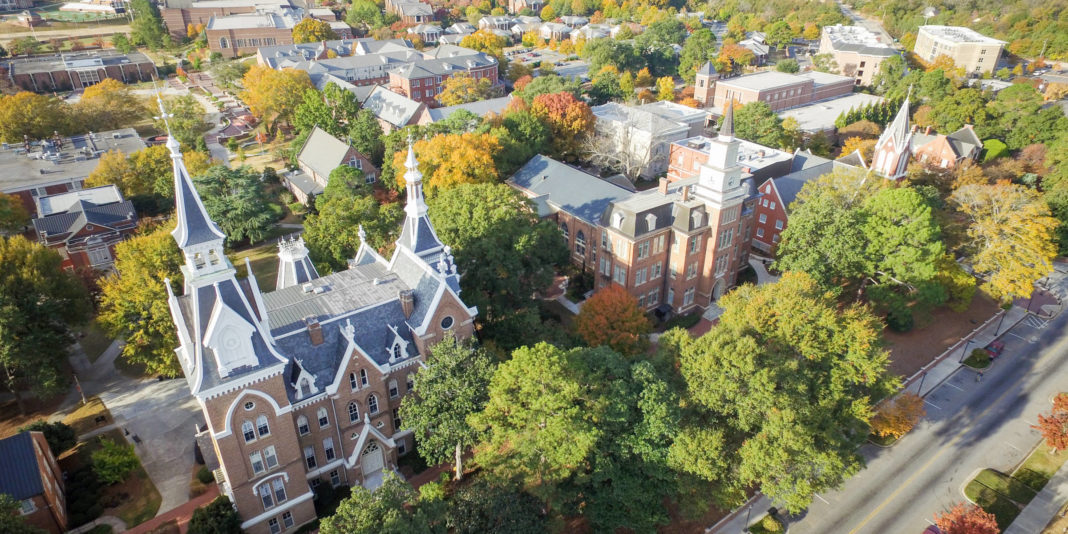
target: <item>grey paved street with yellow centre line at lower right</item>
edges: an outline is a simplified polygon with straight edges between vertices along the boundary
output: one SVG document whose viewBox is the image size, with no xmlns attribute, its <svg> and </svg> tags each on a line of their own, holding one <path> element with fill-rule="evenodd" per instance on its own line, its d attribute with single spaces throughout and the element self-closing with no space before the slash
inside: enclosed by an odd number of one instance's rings
<svg viewBox="0 0 1068 534">
<path fill-rule="evenodd" d="M 1064 297 L 1062 281 L 1054 293 Z M 913 533 L 964 500 L 963 485 L 980 469 L 1010 471 L 1039 442 L 1031 428 L 1050 399 L 1068 389 L 1068 314 L 1024 318 L 1002 337 L 1005 354 L 976 381 L 961 368 L 926 397 L 927 417 L 893 447 L 865 445 L 867 467 L 836 491 L 820 494 L 790 532 Z M 770 505 L 753 506 L 759 517 Z M 717 532 L 741 532 L 741 518 Z"/>
</svg>

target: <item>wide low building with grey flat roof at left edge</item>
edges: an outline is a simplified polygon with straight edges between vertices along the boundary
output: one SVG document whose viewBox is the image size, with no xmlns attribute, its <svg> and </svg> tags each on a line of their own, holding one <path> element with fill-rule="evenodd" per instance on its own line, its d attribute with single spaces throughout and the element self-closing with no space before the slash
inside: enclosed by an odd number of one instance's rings
<svg viewBox="0 0 1068 534">
<path fill-rule="evenodd" d="M 108 151 L 131 154 L 144 148 L 134 128 L 0 144 L 0 192 L 18 197 L 36 217 L 38 197 L 81 189 Z"/>
</svg>

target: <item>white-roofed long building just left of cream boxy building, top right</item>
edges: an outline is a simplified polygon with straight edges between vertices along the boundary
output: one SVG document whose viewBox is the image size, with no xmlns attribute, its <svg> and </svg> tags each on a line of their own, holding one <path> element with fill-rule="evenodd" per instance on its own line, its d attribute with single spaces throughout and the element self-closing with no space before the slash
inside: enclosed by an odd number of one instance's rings
<svg viewBox="0 0 1068 534">
<path fill-rule="evenodd" d="M 870 85 L 882 61 L 897 56 L 897 50 L 867 28 L 834 25 L 823 27 L 818 53 L 831 54 L 838 70 L 852 76 L 858 85 Z"/>
</svg>

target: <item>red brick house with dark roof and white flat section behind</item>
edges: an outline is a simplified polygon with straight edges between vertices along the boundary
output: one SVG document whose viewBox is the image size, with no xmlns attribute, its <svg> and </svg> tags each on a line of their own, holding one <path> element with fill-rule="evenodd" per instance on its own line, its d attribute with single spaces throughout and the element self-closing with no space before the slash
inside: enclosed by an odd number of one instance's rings
<svg viewBox="0 0 1068 534">
<path fill-rule="evenodd" d="M 67 270 L 108 271 L 115 246 L 137 232 L 137 210 L 116 186 L 37 197 L 37 241 L 63 256 Z"/>
</svg>

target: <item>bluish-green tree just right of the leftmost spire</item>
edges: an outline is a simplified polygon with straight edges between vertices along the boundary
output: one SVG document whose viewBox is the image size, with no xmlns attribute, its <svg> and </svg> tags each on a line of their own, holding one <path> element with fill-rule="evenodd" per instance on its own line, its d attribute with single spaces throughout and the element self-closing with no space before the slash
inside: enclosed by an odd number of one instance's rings
<svg viewBox="0 0 1068 534">
<path fill-rule="evenodd" d="M 231 242 L 262 241 L 274 222 L 260 173 L 216 166 L 193 178 L 208 215 Z"/>
</svg>

